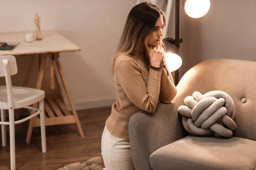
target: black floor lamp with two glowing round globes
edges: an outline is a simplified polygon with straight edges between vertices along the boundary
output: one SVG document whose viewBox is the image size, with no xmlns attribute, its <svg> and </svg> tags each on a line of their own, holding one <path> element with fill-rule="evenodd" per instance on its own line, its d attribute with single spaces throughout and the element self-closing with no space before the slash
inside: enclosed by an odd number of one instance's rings
<svg viewBox="0 0 256 170">
<path fill-rule="evenodd" d="M 204 16 L 207 14 L 210 8 L 210 0 L 182 1 L 186 14 L 192 18 Z M 167 16 L 167 19 L 169 20 L 169 16 Z M 175 72 L 174 83 L 177 85 L 179 82 L 179 68 L 182 64 L 179 48 L 180 43 L 183 42 L 182 38 L 180 38 L 180 0 L 175 0 L 175 39 L 167 37 L 163 41 L 166 44 L 166 63 L 170 69 L 170 72 Z"/>
</svg>

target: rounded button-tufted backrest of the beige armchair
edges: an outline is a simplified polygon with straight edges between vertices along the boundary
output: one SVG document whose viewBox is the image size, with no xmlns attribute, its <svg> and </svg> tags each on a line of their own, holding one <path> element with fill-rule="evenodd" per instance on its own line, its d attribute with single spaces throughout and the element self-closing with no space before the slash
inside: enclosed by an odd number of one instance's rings
<svg viewBox="0 0 256 170">
<path fill-rule="evenodd" d="M 209 59 L 195 65 L 177 85 L 175 111 L 194 91 L 205 94 L 214 90 L 226 92 L 235 103 L 237 128 L 233 136 L 256 141 L 256 62 Z"/>
</svg>

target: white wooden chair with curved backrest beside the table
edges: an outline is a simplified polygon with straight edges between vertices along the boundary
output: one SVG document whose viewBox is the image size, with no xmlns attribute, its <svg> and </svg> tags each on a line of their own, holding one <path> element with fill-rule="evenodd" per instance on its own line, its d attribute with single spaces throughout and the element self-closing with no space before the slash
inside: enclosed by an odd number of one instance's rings
<svg viewBox="0 0 256 170">
<path fill-rule="evenodd" d="M 0 109 L 2 127 L 2 144 L 6 146 L 6 125 L 10 127 L 10 157 L 11 170 L 15 170 L 15 124 L 23 123 L 32 117 L 40 114 L 41 123 L 41 142 L 42 152 L 45 153 L 46 137 L 44 123 L 44 91 L 12 86 L 11 76 L 17 74 L 17 64 L 14 56 L 0 56 L 0 77 L 5 77 L 6 86 L 0 86 Z M 30 107 L 30 105 L 39 102 L 39 109 Z M 14 120 L 14 109 L 27 108 L 35 110 L 34 114 L 27 116 L 21 120 Z M 6 121 L 5 110 L 9 110 L 9 122 Z"/>
</svg>

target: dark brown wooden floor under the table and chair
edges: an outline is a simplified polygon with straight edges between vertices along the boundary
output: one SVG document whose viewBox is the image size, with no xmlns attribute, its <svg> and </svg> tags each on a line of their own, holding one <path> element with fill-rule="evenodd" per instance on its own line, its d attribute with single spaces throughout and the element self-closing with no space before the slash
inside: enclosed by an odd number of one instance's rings
<svg viewBox="0 0 256 170">
<path fill-rule="evenodd" d="M 47 126 L 47 153 L 41 151 L 40 127 L 34 128 L 31 143 L 26 144 L 28 122 L 15 125 L 16 169 L 57 170 L 70 163 L 83 163 L 100 156 L 102 132 L 111 107 L 77 112 L 85 137 L 79 136 L 76 124 Z M 6 129 L 9 130 L 8 126 Z M 0 140 L 0 170 L 10 169 L 9 131 L 6 134 L 6 147 Z"/>
</svg>

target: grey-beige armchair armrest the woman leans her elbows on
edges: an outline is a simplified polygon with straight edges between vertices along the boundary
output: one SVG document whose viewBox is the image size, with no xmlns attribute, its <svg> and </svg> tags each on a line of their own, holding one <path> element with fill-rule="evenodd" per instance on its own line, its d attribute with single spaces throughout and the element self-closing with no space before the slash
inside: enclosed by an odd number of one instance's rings
<svg viewBox="0 0 256 170">
<path fill-rule="evenodd" d="M 174 105 L 158 103 L 154 113 L 140 111 L 129 120 L 131 155 L 136 170 L 152 170 L 149 156 L 184 136 L 181 116 Z"/>
</svg>

